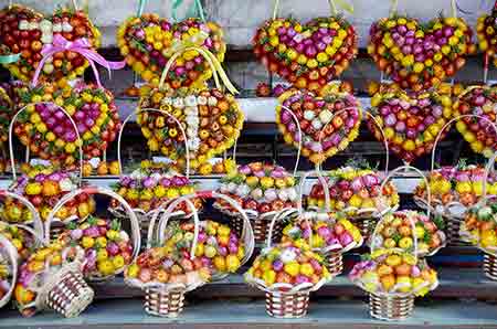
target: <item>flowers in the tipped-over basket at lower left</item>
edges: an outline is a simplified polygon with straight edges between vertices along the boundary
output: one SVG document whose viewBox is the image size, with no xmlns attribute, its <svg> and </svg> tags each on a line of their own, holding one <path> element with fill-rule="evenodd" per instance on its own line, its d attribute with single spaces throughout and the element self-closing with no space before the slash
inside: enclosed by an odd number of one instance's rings
<svg viewBox="0 0 497 329">
<path fill-rule="evenodd" d="M 20 265 L 14 298 L 23 316 L 33 316 L 38 310 L 45 307 L 45 303 L 40 300 L 44 297 L 42 295 L 46 295 L 45 286 L 53 286 L 53 280 L 57 277 L 56 274 L 63 272 L 64 268 L 71 267 L 77 272 L 83 266 L 81 262 L 83 253 L 78 246 L 67 246 L 60 242 L 53 242 L 34 251 Z M 87 304 L 92 299 L 93 290 Z"/>
</svg>

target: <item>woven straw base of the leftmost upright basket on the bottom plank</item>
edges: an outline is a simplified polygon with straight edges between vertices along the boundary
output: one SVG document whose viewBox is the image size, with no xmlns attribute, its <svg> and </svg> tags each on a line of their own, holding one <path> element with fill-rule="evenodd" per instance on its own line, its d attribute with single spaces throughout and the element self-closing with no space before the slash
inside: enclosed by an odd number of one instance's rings
<svg viewBox="0 0 497 329">
<path fill-rule="evenodd" d="M 146 289 L 145 311 L 156 317 L 177 318 L 183 310 L 184 290 Z"/>
</svg>

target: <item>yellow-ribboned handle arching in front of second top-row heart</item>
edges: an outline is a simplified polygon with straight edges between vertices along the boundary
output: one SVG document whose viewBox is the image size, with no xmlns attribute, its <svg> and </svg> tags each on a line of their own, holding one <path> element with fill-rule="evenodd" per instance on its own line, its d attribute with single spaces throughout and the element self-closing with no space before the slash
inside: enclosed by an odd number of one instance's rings
<svg viewBox="0 0 497 329">
<path fill-rule="evenodd" d="M 221 63 L 218 61 L 218 59 L 208 50 L 202 49 L 197 45 L 181 45 L 177 50 L 177 52 L 169 59 L 169 61 L 166 64 L 166 67 L 162 71 L 162 75 L 160 76 L 159 81 L 159 89 L 163 88 L 163 84 L 166 82 L 166 78 L 168 76 L 169 70 L 171 70 L 172 64 L 184 52 L 188 51 L 197 51 L 199 54 L 201 54 L 205 61 L 208 62 L 209 66 L 211 67 L 212 75 L 214 76 L 214 83 L 215 87 L 218 89 L 221 89 L 220 78 L 223 82 L 226 89 L 232 94 L 239 94 L 239 91 L 233 86 L 230 78 L 228 77 L 226 73 L 224 72 L 223 67 L 221 66 Z M 219 76 L 218 76 L 219 75 Z"/>
</svg>

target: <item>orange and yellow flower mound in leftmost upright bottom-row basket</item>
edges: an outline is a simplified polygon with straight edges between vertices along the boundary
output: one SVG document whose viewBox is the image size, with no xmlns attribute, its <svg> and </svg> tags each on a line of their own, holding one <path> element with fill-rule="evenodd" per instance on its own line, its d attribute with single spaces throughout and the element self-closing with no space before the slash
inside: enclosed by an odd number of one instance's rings
<svg viewBox="0 0 497 329">
<path fill-rule="evenodd" d="M 210 282 L 211 276 L 211 268 L 200 258 L 167 246 L 146 250 L 125 272 L 125 280 L 138 287 L 178 285 L 193 289 Z"/>
</svg>

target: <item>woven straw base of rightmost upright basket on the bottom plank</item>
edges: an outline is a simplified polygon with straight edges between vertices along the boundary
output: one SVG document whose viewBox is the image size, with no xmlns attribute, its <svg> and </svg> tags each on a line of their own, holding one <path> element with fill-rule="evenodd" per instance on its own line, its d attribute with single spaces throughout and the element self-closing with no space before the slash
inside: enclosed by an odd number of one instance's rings
<svg viewBox="0 0 497 329">
<path fill-rule="evenodd" d="M 369 312 L 380 320 L 396 321 L 411 317 L 414 310 L 414 296 L 387 297 L 369 295 Z"/>
</svg>

